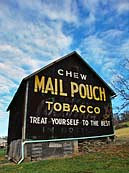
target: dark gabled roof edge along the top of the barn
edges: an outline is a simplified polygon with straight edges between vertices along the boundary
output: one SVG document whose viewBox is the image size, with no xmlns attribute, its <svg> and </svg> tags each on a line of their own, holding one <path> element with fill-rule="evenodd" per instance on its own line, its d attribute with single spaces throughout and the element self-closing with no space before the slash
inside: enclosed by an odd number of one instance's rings
<svg viewBox="0 0 129 173">
<path fill-rule="evenodd" d="M 47 69 L 48 67 L 51 67 L 52 65 L 62 61 L 63 59 L 66 59 L 70 56 L 73 56 L 73 55 L 76 55 L 76 57 L 78 57 L 79 59 L 81 59 L 83 61 L 83 63 L 102 81 L 102 83 L 104 83 L 104 85 L 108 88 L 108 90 L 110 91 L 110 94 L 112 97 L 115 97 L 116 94 L 115 92 L 111 89 L 111 87 L 93 70 L 93 68 L 91 66 L 89 66 L 83 59 L 82 57 L 76 52 L 76 51 L 73 51 L 71 52 L 70 54 L 66 55 L 66 56 L 63 56 L 62 58 L 59 58 L 57 59 L 56 61 L 44 66 L 43 68 L 37 70 L 36 72 L 30 74 L 29 76 L 25 77 L 22 81 L 21 81 L 21 84 L 19 86 L 19 88 L 17 89 L 12 101 L 10 102 L 8 108 L 7 108 L 7 111 L 10 110 L 10 108 L 12 107 L 12 105 L 14 104 L 14 102 L 16 101 L 16 98 L 18 97 L 18 95 L 20 93 L 23 93 L 25 92 L 25 86 L 26 86 L 26 82 L 27 80 L 29 80 L 31 77 L 33 77 L 34 75 L 38 74 L 40 71 L 43 71 L 45 69 Z"/>
</svg>

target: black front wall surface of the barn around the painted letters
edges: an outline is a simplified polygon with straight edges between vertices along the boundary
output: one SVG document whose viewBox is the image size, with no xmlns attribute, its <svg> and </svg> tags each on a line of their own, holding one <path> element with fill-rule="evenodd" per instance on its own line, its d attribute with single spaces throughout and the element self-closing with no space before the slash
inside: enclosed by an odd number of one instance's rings
<svg viewBox="0 0 129 173">
<path fill-rule="evenodd" d="M 82 81 L 80 78 L 70 78 L 65 76 L 59 76 L 57 75 L 57 70 L 63 69 L 73 72 L 79 72 L 82 74 L 87 74 L 88 79 L 86 81 Z M 109 89 L 107 88 L 106 84 L 103 83 L 100 78 L 91 71 L 91 69 L 82 61 L 81 59 L 77 58 L 76 55 L 65 58 L 64 60 L 61 60 L 60 62 L 57 62 L 53 64 L 52 66 L 42 70 L 37 74 L 39 76 L 39 79 L 41 79 L 42 76 L 45 76 L 46 78 L 51 77 L 52 80 L 54 78 L 62 79 L 64 83 L 65 91 L 68 93 L 68 97 L 60 96 L 60 95 L 52 95 L 50 92 L 47 94 L 41 93 L 41 92 L 34 92 L 34 80 L 35 76 L 32 76 L 29 80 L 29 95 L 28 95 L 28 107 L 27 107 L 27 126 L 26 126 L 26 138 L 27 139 L 58 139 L 58 138 L 76 138 L 76 137 L 89 137 L 89 136 L 99 136 L 99 135 L 108 135 L 113 134 L 113 125 L 112 125 L 112 108 L 111 108 L 111 93 Z M 86 83 L 88 85 L 92 84 L 93 86 L 97 85 L 100 87 L 104 87 L 106 91 L 106 101 L 94 101 L 94 100 L 86 100 L 86 99 L 80 99 L 79 95 L 76 95 L 76 97 L 71 98 L 70 95 L 70 88 L 69 83 L 73 81 L 78 84 L 80 83 Z M 54 80 L 53 80 L 54 82 Z M 73 104 L 85 104 L 85 105 L 92 105 L 92 106 L 99 106 L 101 108 L 101 115 L 95 116 L 95 115 L 82 115 L 81 113 L 68 113 L 68 112 L 55 112 L 53 110 L 53 107 L 50 111 L 47 110 L 45 101 L 49 100 L 52 102 L 60 102 L 60 103 L 69 103 L 70 105 Z M 73 118 L 80 120 L 82 119 L 88 119 L 88 120 L 98 120 L 101 121 L 104 119 L 104 116 L 106 114 L 106 109 L 109 109 L 110 116 L 107 120 L 110 121 L 111 125 L 110 127 L 100 127 L 97 128 L 95 126 L 88 126 L 88 127 L 82 127 L 81 125 L 75 127 L 75 126 L 61 126 L 56 125 L 53 126 L 50 122 L 51 117 L 56 118 Z M 48 118 L 48 124 L 42 125 L 42 124 L 30 124 L 30 118 L 29 116 L 37 116 L 37 117 L 47 117 Z"/>
</svg>

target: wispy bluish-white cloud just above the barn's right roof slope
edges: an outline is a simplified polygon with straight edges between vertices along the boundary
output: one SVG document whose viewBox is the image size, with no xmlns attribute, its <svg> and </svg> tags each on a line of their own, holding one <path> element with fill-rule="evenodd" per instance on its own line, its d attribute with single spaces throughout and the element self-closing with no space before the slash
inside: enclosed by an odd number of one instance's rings
<svg viewBox="0 0 129 173">
<path fill-rule="evenodd" d="M 113 69 L 118 64 L 116 56 L 118 45 L 112 45 L 112 40 L 120 35 L 120 31 L 107 30 L 101 34 L 85 37 L 79 47 L 81 54 L 86 57 L 86 61 L 92 64 L 93 68 L 108 81 L 110 81 Z"/>
</svg>

